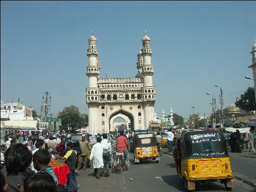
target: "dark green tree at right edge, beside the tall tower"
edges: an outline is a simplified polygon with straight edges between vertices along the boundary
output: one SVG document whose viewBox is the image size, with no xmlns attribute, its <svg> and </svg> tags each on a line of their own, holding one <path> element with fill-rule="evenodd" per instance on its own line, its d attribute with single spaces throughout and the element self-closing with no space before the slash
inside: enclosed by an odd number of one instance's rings
<svg viewBox="0 0 256 192">
<path fill-rule="evenodd" d="M 235 102 L 235 106 L 247 112 L 256 110 L 254 88 L 248 87 L 247 91 Z"/>
</svg>

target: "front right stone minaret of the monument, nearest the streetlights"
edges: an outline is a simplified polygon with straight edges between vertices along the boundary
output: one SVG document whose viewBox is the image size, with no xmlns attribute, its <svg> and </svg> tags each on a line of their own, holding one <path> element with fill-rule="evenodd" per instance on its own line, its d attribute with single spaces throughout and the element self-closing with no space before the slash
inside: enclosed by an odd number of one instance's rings
<svg viewBox="0 0 256 192">
<path fill-rule="evenodd" d="M 146 35 L 142 38 L 142 53 L 143 56 L 143 88 L 142 95 L 144 99 L 144 124 L 145 129 L 149 128 L 149 121 L 154 119 L 156 102 L 156 87 L 153 86 L 152 76 L 154 73 L 154 66 L 151 64 L 152 49 L 150 48 L 150 38 Z"/>
</svg>

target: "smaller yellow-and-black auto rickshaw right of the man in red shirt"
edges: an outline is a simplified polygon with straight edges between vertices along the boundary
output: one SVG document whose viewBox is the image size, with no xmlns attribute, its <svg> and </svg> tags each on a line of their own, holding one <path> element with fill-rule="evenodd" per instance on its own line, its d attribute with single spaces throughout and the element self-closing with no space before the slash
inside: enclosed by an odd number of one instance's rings
<svg viewBox="0 0 256 192">
<path fill-rule="evenodd" d="M 138 164 L 142 159 L 159 161 L 156 135 L 152 132 L 137 133 L 134 135 L 134 162 Z"/>
</svg>

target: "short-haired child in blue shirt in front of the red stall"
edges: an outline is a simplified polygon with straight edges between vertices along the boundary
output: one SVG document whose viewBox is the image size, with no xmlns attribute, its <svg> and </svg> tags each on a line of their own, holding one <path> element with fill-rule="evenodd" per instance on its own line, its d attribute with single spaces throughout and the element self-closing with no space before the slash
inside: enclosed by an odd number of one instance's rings
<svg viewBox="0 0 256 192">
<path fill-rule="evenodd" d="M 52 170 L 52 168 L 48 164 L 50 162 L 51 155 L 46 149 L 41 149 L 38 150 L 36 153 L 33 155 L 33 164 L 34 168 L 39 172 L 48 172 L 54 179 L 56 185 L 59 184 L 58 179 Z"/>
</svg>

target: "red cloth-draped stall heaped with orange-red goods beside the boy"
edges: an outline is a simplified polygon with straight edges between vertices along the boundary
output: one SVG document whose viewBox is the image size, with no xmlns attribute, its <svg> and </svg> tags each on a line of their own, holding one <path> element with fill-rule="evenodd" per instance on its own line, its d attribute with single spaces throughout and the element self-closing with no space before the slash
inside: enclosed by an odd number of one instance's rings
<svg viewBox="0 0 256 192">
<path fill-rule="evenodd" d="M 50 160 L 48 166 L 51 166 L 59 181 L 59 184 L 65 185 L 68 181 L 67 175 L 70 173 L 68 164 L 62 164 L 57 160 Z"/>
</svg>

